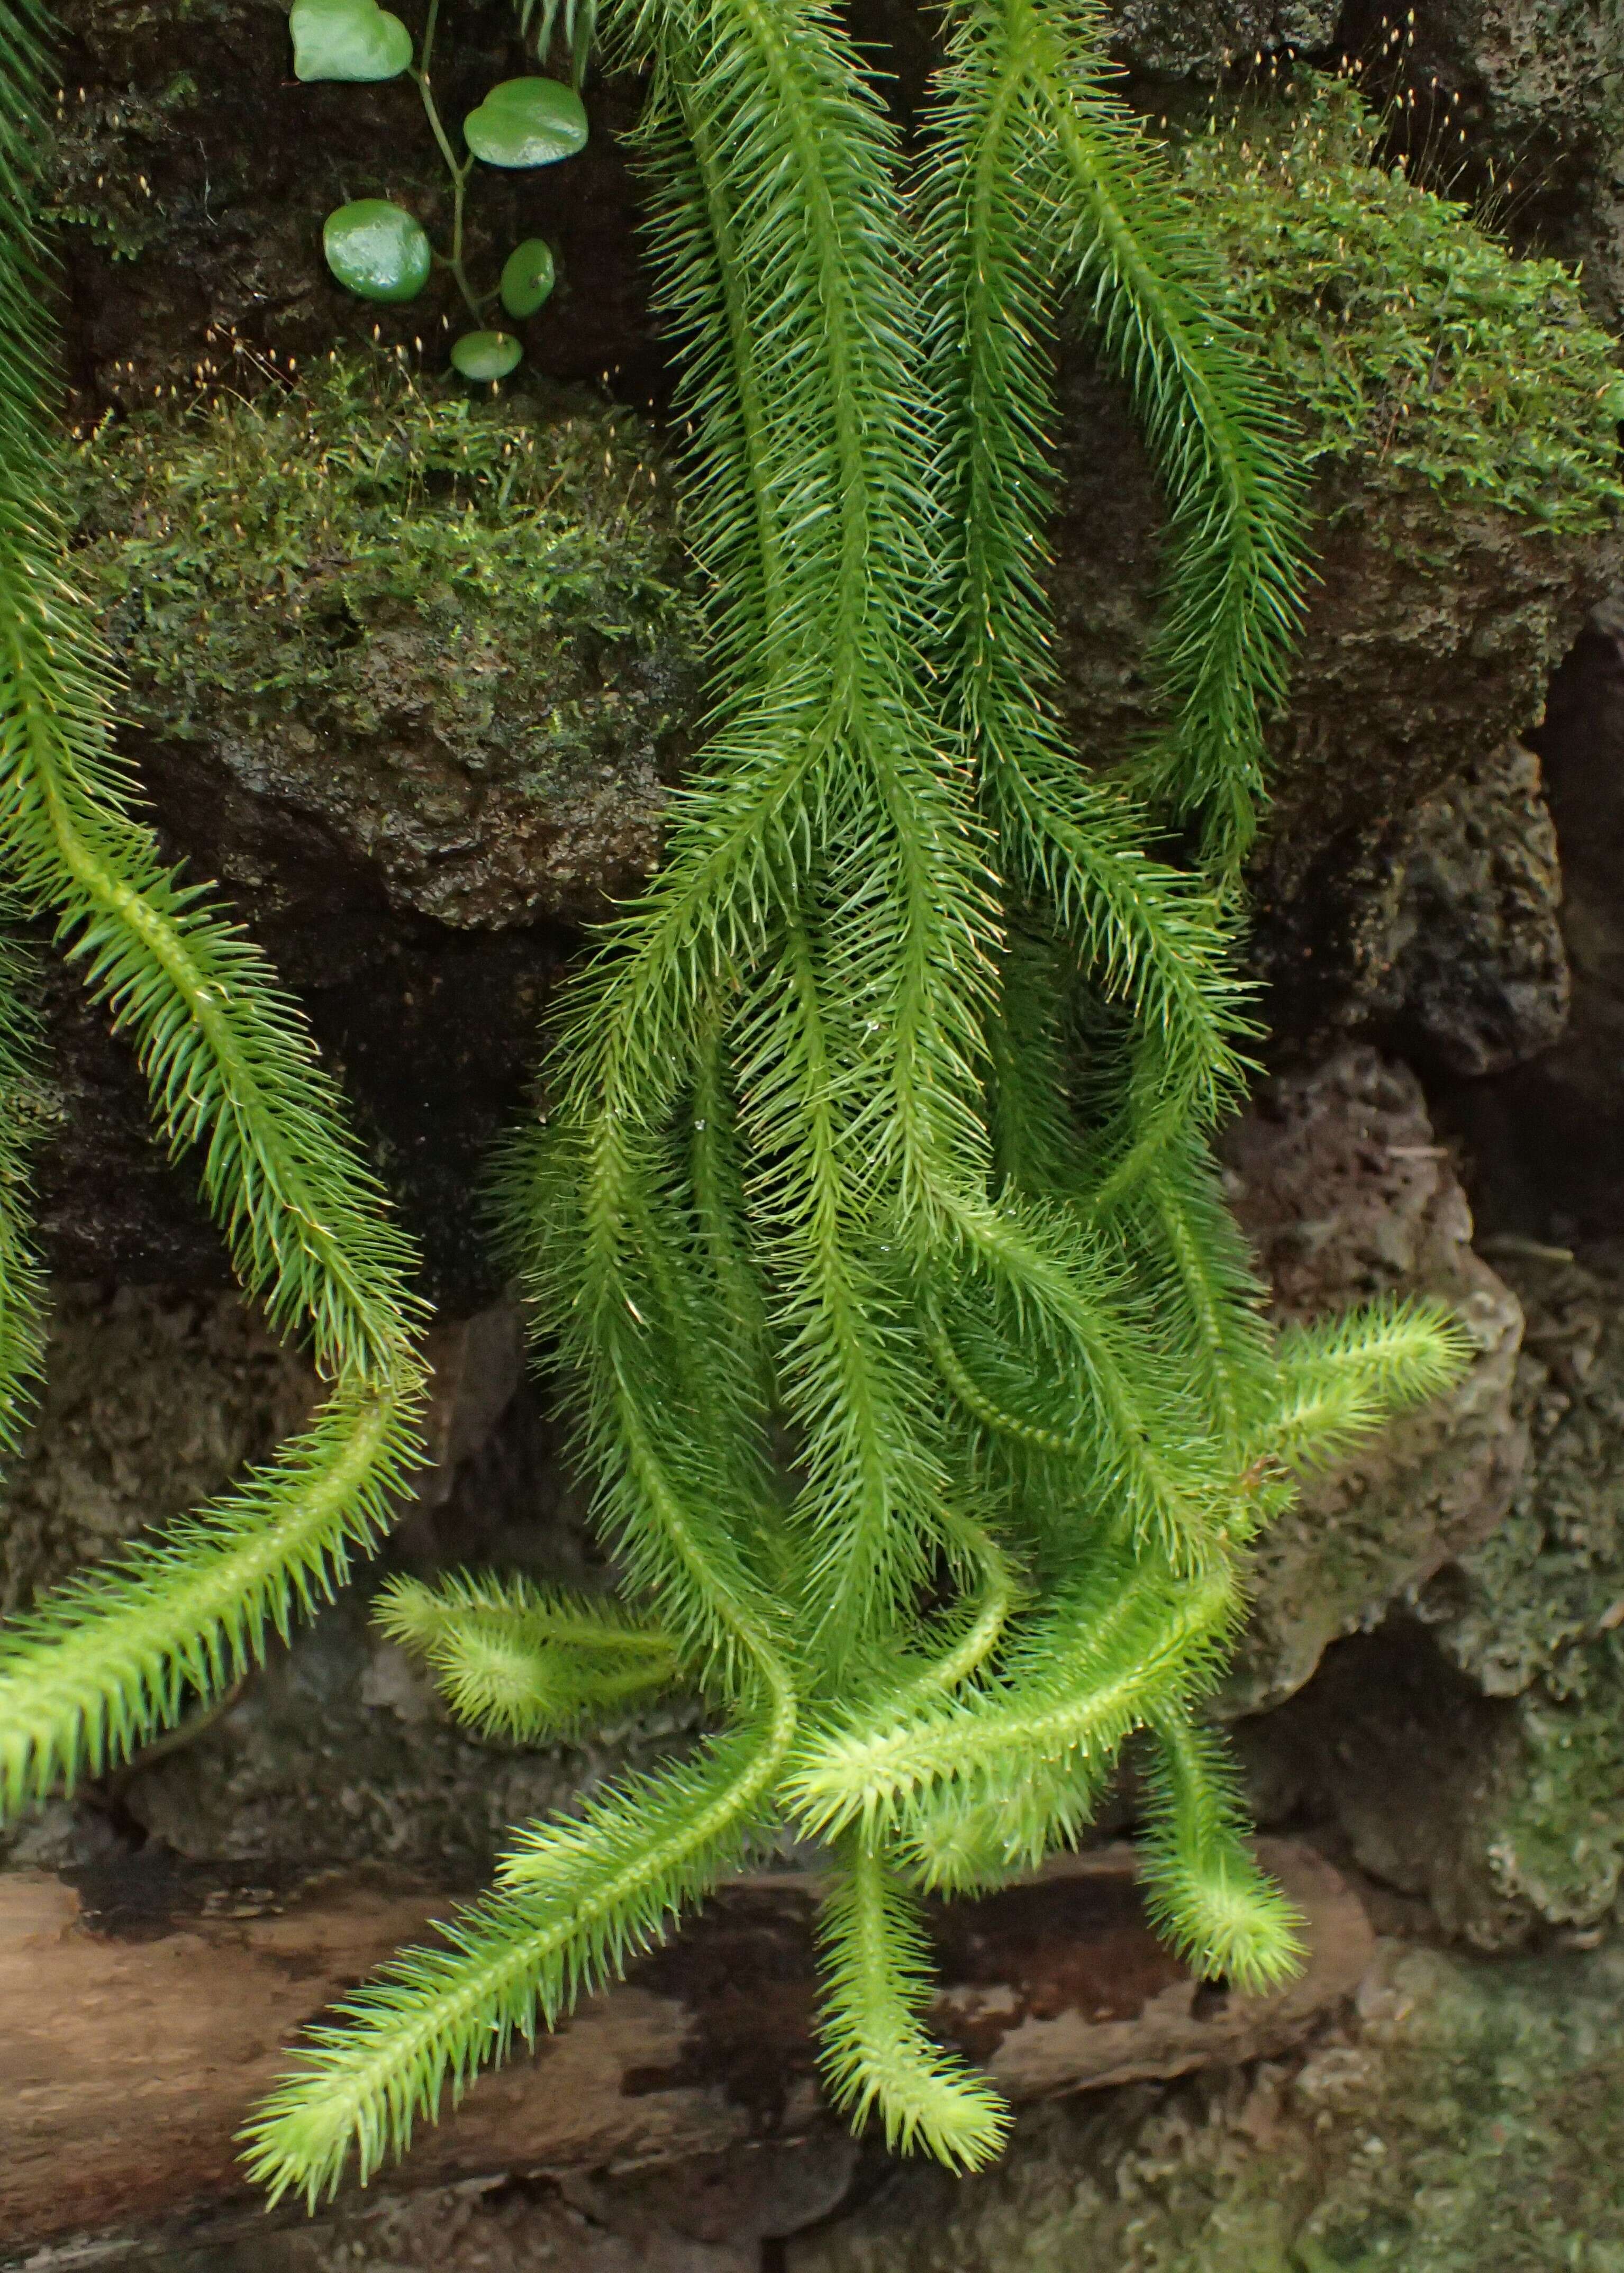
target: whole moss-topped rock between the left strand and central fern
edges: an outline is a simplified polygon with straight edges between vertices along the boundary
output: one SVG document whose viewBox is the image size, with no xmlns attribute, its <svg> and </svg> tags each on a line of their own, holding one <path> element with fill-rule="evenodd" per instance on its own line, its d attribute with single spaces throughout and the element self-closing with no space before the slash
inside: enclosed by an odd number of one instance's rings
<svg viewBox="0 0 1624 2273">
<path fill-rule="evenodd" d="M 637 421 L 330 359 L 107 421 L 75 482 L 136 757 L 200 748 L 441 923 L 653 864 L 698 632 Z"/>
</svg>

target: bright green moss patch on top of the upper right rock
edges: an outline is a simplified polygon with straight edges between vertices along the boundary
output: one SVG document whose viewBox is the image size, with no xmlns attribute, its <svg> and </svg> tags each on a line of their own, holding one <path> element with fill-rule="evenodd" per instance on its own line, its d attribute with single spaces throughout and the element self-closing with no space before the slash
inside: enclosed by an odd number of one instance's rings
<svg viewBox="0 0 1624 2273">
<path fill-rule="evenodd" d="M 1219 305 L 1267 336 L 1310 464 L 1360 457 L 1553 532 L 1606 527 L 1624 418 L 1615 343 L 1572 270 L 1515 259 L 1460 205 L 1374 164 L 1358 93 L 1310 80 L 1201 134 Z"/>
</svg>

